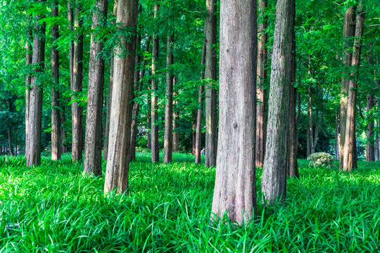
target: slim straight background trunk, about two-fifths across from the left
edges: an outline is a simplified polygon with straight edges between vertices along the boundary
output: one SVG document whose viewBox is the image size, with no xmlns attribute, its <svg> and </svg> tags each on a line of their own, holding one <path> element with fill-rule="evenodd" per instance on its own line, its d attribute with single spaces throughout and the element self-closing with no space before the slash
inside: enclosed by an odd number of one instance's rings
<svg viewBox="0 0 380 253">
<path fill-rule="evenodd" d="M 157 1 L 154 4 L 154 18 L 157 18 L 158 12 Z M 153 52 L 152 52 L 152 90 L 151 90 L 151 151 L 152 162 L 160 161 L 160 147 L 158 146 L 158 82 L 156 80 L 157 62 L 158 62 L 158 35 L 153 34 Z"/>
</svg>

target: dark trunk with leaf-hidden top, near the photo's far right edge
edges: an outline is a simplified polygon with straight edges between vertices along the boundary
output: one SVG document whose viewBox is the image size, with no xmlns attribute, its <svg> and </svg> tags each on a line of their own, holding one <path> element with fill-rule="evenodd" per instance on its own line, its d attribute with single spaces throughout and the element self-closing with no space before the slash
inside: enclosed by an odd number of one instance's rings
<svg viewBox="0 0 380 253">
<path fill-rule="evenodd" d="M 375 161 L 374 150 L 374 119 L 372 114 L 372 108 L 374 108 L 374 95 L 367 94 L 367 148 L 366 148 L 366 162 Z"/>
</svg>

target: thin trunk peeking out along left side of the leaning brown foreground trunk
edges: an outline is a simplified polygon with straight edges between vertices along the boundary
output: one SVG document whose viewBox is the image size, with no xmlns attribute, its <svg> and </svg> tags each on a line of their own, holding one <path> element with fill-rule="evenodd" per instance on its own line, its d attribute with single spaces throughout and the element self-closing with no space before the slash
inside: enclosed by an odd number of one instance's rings
<svg viewBox="0 0 380 253">
<path fill-rule="evenodd" d="M 113 15 L 116 15 L 118 11 L 118 2 L 113 3 Z M 113 22 L 111 22 L 112 25 Z M 108 94 L 107 94 L 107 115 L 106 115 L 106 126 L 104 126 L 104 155 L 103 158 L 107 160 L 108 155 L 108 133 L 110 131 L 110 108 L 112 104 L 112 87 L 113 87 L 113 51 L 111 52 L 110 58 L 110 82 L 108 84 Z"/>
</svg>

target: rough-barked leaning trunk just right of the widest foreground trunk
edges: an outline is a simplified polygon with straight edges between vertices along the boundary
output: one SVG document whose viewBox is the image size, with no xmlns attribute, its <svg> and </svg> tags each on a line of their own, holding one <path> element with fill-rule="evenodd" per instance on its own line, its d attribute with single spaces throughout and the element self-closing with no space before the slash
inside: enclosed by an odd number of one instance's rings
<svg viewBox="0 0 380 253">
<path fill-rule="evenodd" d="M 276 8 L 267 143 L 262 167 L 261 190 L 268 204 L 286 200 L 286 153 L 289 133 L 289 95 L 294 0 L 279 0 Z"/>
</svg>

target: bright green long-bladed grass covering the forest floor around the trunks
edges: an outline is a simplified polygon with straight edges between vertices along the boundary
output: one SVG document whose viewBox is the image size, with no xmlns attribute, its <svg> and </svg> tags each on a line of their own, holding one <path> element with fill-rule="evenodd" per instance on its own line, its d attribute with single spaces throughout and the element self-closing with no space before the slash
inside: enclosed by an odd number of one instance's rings
<svg viewBox="0 0 380 253">
<path fill-rule="evenodd" d="M 140 153 L 129 195 L 103 195 L 65 155 L 27 168 L 0 157 L 0 252 L 379 252 L 380 166 L 346 174 L 308 167 L 289 179 L 284 206 L 259 204 L 258 223 L 209 222 L 215 169 L 176 154 L 151 164 Z M 258 170 L 260 186 L 261 171 Z"/>
</svg>

